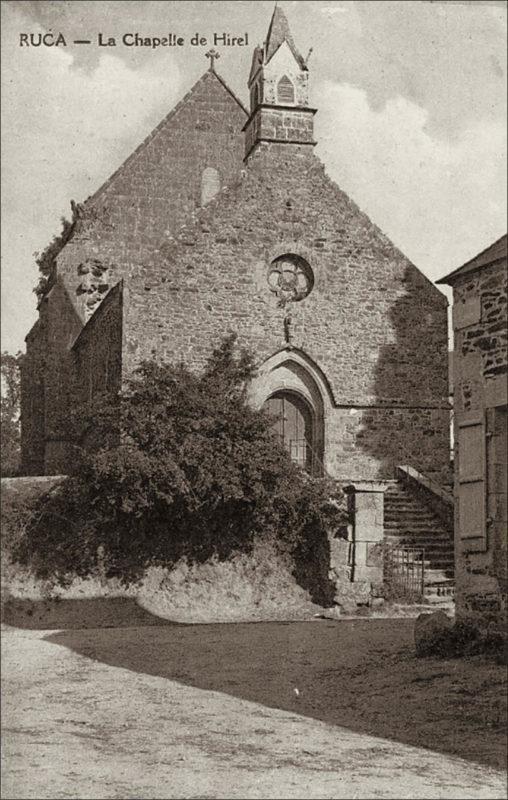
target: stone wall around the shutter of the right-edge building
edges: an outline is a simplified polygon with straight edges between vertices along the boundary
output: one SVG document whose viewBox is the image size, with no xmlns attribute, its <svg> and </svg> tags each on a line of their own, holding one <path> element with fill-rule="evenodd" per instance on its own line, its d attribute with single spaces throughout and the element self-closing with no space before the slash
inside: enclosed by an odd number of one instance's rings
<svg viewBox="0 0 508 800">
<path fill-rule="evenodd" d="M 454 285 L 455 580 L 460 616 L 506 623 L 506 259 L 464 275 Z M 459 426 L 477 416 L 485 425 L 486 550 L 469 549 L 459 509 Z M 504 495 L 504 500 L 503 500 Z"/>
</svg>

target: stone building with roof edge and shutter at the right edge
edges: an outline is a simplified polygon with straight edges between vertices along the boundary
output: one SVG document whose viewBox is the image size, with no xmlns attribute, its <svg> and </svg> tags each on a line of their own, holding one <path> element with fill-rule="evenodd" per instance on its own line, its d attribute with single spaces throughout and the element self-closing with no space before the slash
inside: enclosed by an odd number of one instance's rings
<svg viewBox="0 0 508 800">
<path fill-rule="evenodd" d="M 453 287 L 457 612 L 506 622 L 507 237 L 439 283 Z"/>
</svg>

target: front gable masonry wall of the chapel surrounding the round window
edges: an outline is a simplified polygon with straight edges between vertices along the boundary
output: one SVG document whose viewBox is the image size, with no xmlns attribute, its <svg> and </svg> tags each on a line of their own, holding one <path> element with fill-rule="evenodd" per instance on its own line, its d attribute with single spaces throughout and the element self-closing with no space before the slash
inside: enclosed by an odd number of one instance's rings
<svg viewBox="0 0 508 800">
<path fill-rule="evenodd" d="M 285 309 L 270 263 L 305 258 L 314 288 Z M 261 145 L 160 257 L 127 280 L 124 369 L 156 356 L 200 368 L 228 331 L 259 362 L 303 351 L 330 385 L 327 468 L 393 477 L 395 463 L 448 462 L 446 300 L 300 145 Z M 150 334 L 148 335 L 148 332 Z"/>
</svg>

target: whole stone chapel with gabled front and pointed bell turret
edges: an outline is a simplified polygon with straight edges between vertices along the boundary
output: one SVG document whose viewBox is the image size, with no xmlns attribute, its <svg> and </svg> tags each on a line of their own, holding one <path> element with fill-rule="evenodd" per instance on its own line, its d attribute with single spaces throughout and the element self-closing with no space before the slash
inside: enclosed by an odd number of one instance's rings
<svg viewBox="0 0 508 800">
<path fill-rule="evenodd" d="M 344 484 L 449 467 L 447 301 L 326 174 L 309 68 L 276 7 L 245 108 L 207 71 L 74 207 L 26 337 L 26 475 L 62 474 L 72 398 L 141 360 L 199 369 L 230 331 L 291 456 Z"/>
</svg>

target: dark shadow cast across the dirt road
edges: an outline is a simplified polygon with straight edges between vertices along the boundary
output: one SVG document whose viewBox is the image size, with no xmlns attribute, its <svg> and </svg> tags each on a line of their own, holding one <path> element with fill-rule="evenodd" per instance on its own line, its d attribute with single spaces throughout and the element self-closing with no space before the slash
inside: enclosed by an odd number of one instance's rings
<svg viewBox="0 0 508 800">
<path fill-rule="evenodd" d="M 416 659 L 413 620 L 184 625 L 127 598 L 54 605 L 60 618 L 41 608 L 21 627 L 41 628 L 39 615 L 45 628 L 67 628 L 46 641 L 113 667 L 505 767 L 504 668 L 479 657 Z M 113 627 L 72 630 L 87 613 Z"/>
</svg>

